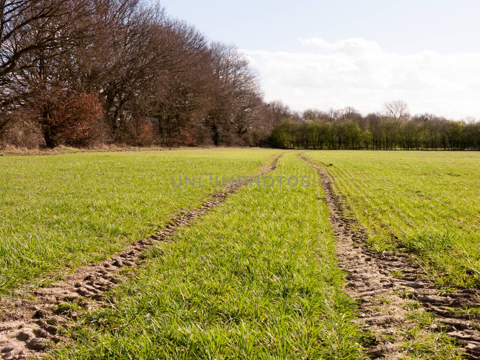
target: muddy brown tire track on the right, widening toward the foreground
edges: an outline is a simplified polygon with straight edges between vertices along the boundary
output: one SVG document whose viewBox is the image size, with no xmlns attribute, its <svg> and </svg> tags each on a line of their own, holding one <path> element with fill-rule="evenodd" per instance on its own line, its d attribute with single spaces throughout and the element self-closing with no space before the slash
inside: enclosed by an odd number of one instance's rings
<svg viewBox="0 0 480 360">
<path fill-rule="evenodd" d="M 408 314 L 413 311 L 433 312 L 435 321 L 429 332 L 443 330 L 458 346 L 465 349 L 466 359 L 480 359 L 479 312 L 465 313 L 459 309 L 480 308 L 479 289 L 458 289 L 445 293 L 433 285 L 408 253 L 369 252 L 368 239 L 360 225 L 346 215 L 345 198 L 337 195 L 324 168 L 300 157 L 316 168 L 321 177 L 324 199 L 330 210 L 330 221 L 336 237 L 337 261 L 345 270 L 346 293 L 360 301 L 358 324 L 374 336 L 366 347 L 373 359 L 398 359 L 402 342 L 407 340 L 398 329 L 415 325 Z M 416 303 L 416 305 L 415 305 Z M 415 306 L 412 306 L 415 305 Z"/>
</svg>

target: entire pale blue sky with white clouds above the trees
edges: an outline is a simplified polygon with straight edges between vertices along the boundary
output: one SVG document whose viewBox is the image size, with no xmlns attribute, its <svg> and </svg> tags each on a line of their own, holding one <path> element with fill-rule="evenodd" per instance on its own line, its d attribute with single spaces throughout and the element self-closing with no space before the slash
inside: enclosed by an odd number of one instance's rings
<svg viewBox="0 0 480 360">
<path fill-rule="evenodd" d="M 480 1 L 174 1 L 168 14 L 235 43 L 265 99 L 292 108 L 381 110 L 480 119 Z"/>
</svg>

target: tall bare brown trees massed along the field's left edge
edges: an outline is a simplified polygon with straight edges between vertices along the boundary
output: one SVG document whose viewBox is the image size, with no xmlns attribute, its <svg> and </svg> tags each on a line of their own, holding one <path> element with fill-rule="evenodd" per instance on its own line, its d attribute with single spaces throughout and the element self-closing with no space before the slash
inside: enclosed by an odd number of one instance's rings
<svg viewBox="0 0 480 360">
<path fill-rule="evenodd" d="M 139 0 L 0 1 L 0 146 L 258 145 L 275 114 L 237 48 Z"/>
</svg>

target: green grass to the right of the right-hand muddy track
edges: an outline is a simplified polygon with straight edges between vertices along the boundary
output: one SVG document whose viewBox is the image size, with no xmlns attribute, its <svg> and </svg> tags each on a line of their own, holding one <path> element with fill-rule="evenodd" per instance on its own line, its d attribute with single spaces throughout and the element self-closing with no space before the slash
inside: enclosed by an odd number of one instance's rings
<svg viewBox="0 0 480 360">
<path fill-rule="evenodd" d="M 429 276 L 480 287 L 480 154 L 310 151 L 331 164 L 338 191 L 369 234 L 372 250 L 416 254 Z"/>
</svg>

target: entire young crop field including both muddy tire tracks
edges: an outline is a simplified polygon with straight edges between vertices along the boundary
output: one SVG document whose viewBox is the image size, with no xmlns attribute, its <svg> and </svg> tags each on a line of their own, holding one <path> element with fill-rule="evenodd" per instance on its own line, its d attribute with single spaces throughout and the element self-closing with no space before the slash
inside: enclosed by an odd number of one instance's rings
<svg viewBox="0 0 480 360">
<path fill-rule="evenodd" d="M 479 160 L 2 157 L 0 356 L 477 359 Z"/>
</svg>

